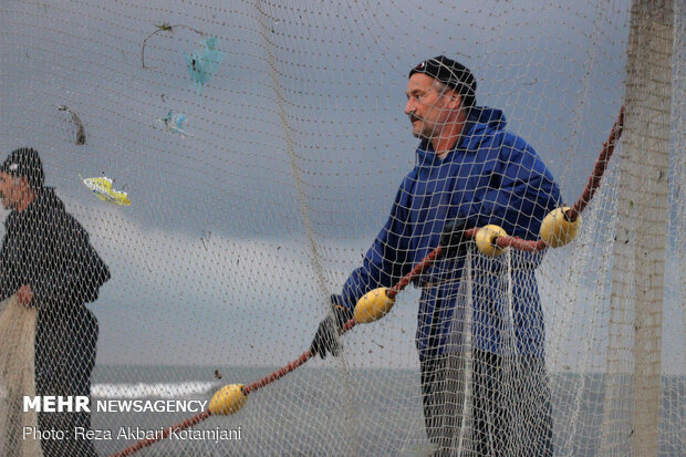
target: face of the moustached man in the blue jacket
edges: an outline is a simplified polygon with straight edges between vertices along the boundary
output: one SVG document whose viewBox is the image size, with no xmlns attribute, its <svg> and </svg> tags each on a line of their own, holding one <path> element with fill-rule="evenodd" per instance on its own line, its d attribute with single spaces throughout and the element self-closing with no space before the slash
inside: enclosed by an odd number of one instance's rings
<svg viewBox="0 0 686 457">
<path fill-rule="evenodd" d="M 412 122 L 412 133 L 423 139 L 439 137 L 450 112 L 459 106 L 459 98 L 456 102 L 450 96 L 450 89 L 440 93 L 436 89 L 436 80 L 424 73 L 415 73 L 409 77 L 406 94 L 404 111 Z"/>
</svg>

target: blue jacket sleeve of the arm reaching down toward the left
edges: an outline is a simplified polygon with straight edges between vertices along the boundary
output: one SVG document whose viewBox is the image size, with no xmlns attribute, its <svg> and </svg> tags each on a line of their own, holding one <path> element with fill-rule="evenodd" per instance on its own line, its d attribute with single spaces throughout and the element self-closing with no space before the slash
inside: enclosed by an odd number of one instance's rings
<svg viewBox="0 0 686 457">
<path fill-rule="evenodd" d="M 406 178 L 398 189 L 388 220 L 365 255 L 362 267 L 354 270 L 343 285 L 342 304 L 351 311 L 366 292 L 380 287 L 392 287 L 412 267 L 407 260 L 409 194 L 405 188 L 408 187 L 408 180 Z"/>
</svg>

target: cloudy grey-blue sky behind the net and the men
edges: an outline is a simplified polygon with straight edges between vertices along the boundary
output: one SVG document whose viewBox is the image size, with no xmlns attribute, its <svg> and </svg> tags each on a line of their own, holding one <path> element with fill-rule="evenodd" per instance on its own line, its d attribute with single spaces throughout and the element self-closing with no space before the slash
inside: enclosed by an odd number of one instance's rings
<svg viewBox="0 0 686 457">
<path fill-rule="evenodd" d="M 98 364 L 280 365 L 306 349 L 414 164 L 404 92 L 424 59 L 469 66 L 477 103 L 502 108 L 576 198 L 622 105 L 627 1 L 450 3 L 2 3 L 0 152 L 39 149 L 112 270 L 90 305 Z M 146 40 L 165 23 L 183 27 Z M 224 53 L 201 92 L 185 64 L 200 49 L 191 29 Z M 85 145 L 58 105 L 80 115 Z M 186 137 L 160 128 L 168 110 L 187 116 Z M 96 200 L 80 175 L 113 178 L 132 206 Z M 611 230 L 614 196 L 597 198 L 590 227 L 605 232 L 589 246 Z M 550 363 L 601 370 L 580 354 L 607 337 L 594 274 L 611 260 L 580 251 L 550 255 L 539 274 Z M 416 366 L 416 298 L 346 336 L 351 366 Z M 569 329 L 586 343 L 567 345 Z M 669 332 L 683 349 L 683 329 Z"/>
</svg>

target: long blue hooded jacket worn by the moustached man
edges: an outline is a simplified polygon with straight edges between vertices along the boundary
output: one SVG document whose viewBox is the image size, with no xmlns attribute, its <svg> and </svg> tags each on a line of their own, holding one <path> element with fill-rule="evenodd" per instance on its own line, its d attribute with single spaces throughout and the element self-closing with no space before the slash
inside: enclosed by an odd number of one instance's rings
<svg viewBox="0 0 686 457">
<path fill-rule="evenodd" d="M 538 239 L 543 217 L 561 204 L 560 190 L 533 148 L 505 126 L 502 112 L 475 108 L 444 159 L 428 142 L 419 144 L 388 220 L 343 287 L 343 304 L 352 310 L 370 290 L 392 287 L 438 246 L 446 221 L 495 224 L 508 235 Z M 542 255 L 510 250 L 486 258 L 470 249 L 469 256 L 468 269 L 465 258 L 443 259 L 415 281 L 422 287 L 419 357 L 462 350 L 467 333 L 484 351 L 543 356 L 534 277 Z M 467 277 L 471 280 L 461 280 Z"/>
</svg>

